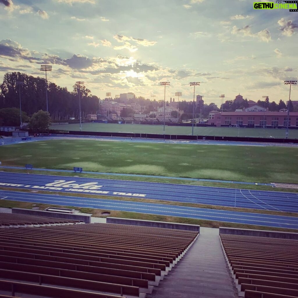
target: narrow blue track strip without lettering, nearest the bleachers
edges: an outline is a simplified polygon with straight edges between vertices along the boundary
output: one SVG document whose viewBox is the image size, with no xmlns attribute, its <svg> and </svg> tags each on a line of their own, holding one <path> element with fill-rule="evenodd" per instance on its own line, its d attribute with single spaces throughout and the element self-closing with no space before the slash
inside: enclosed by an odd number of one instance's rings
<svg viewBox="0 0 298 298">
<path fill-rule="evenodd" d="M 0 190 L 0 200 L 55 204 L 96 209 L 139 212 L 166 216 L 179 216 L 209 221 L 223 221 L 238 224 L 252 224 L 279 228 L 298 229 L 298 218 L 236 211 L 213 210 L 143 202 L 105 200 L 97 198 L 72 197 L 65 195 L 45 195 Z"/>
</svg>

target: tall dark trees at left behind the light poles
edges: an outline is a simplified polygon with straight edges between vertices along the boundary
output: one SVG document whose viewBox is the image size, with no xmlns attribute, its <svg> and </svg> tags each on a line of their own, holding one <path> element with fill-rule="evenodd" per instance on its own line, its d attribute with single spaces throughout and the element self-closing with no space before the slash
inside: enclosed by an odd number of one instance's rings
<svg viewBox="0 0 298 298">
<path fill-rule="evenodd" d="M 19 108 L 19 86 L 17 82 L 24 82 L 20 86 L 22 111 L 27 115 L 43 110 L 46 111 L 46 80 L 41 77 L 12 72 L 4 75 L 0 85 L 0 109 Z M 75 84 L 72 91 L 48 82 L 48 107 L 52 120 L 79 118 L 78 86 Z M 80 86 L 81 112 L 96 114 L 99 109 L 99 98 L 91 94 L 85 86 Z"/>
</svg>

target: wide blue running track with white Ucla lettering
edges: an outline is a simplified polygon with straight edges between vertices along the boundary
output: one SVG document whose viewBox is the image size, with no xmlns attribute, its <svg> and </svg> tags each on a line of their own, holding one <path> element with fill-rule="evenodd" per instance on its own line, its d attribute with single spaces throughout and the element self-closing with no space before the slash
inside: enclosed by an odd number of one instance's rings
<svg viewBox="0 0 298 298">
<path fill-rule="evenodd" d="M 0 186 L 298 212 L 298 193 L 276 191 L 8 172 L 0 172 Z"/>
</svg>

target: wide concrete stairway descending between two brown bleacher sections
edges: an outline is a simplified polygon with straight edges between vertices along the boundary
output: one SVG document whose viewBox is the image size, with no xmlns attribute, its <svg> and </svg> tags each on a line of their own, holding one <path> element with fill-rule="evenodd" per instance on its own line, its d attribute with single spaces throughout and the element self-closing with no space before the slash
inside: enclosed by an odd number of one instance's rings
<svg viewBox="0 0 298 298">
<path fill-rule="evenodd" d="M 182 260 L 146 297 L 238 298 L 218 232 L 218 229 L 201 227 L 198 239 Z"/>
</svg>

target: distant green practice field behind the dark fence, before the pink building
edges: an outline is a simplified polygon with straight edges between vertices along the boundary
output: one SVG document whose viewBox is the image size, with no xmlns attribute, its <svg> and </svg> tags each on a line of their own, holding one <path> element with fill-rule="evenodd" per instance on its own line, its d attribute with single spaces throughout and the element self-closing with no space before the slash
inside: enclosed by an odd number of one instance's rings
<svg viewBox="0 0 298 298">
<path fill-rule="evenodd" d="M 80 124 L 52 125 L 51 129 L 79 131 Z M 134 132 L 148 134 L 163 134 L 163 125 L 138 125 L 138 124 L 117 124 L 117 123 L 83 123 L 83 131 L 102 132 Z M 166 134 L 190 135 L 191 126 L 165 126 Z M 198 136 L 256 136 L 285 138 L 285 129 L 270 128 L 233 128 L 233 127 L 194 127 L 194 134 Z M 298 129 L 289 130 L 289 138 L 298 139 Z"/>
</svg>

